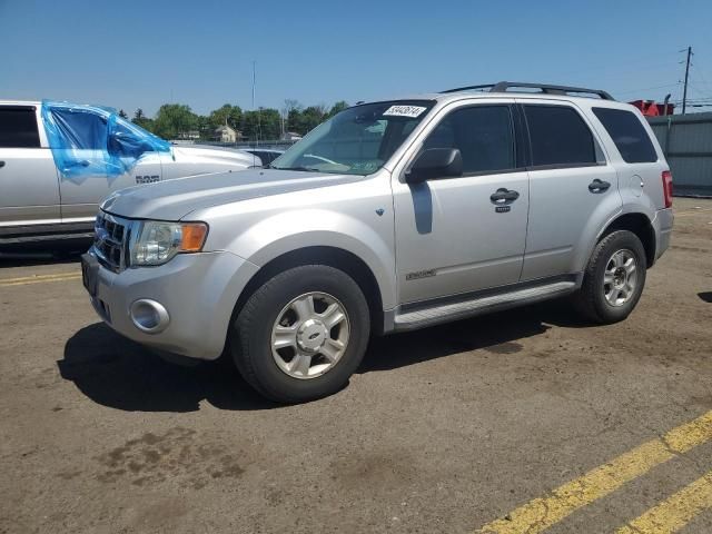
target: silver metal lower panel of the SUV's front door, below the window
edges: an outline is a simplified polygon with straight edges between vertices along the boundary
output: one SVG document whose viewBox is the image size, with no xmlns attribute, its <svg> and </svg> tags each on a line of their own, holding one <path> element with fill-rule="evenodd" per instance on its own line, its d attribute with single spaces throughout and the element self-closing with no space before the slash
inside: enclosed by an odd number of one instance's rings
<svg viewBox="0 0 712 534">
<path fill-rule="evenodd" d="M 497 189 L 520 192 L 495 212 Z M 394 182 L 400 301 L 514 284 L 522 271 L 528 208 L 526 172 Z"/>
</svg>

